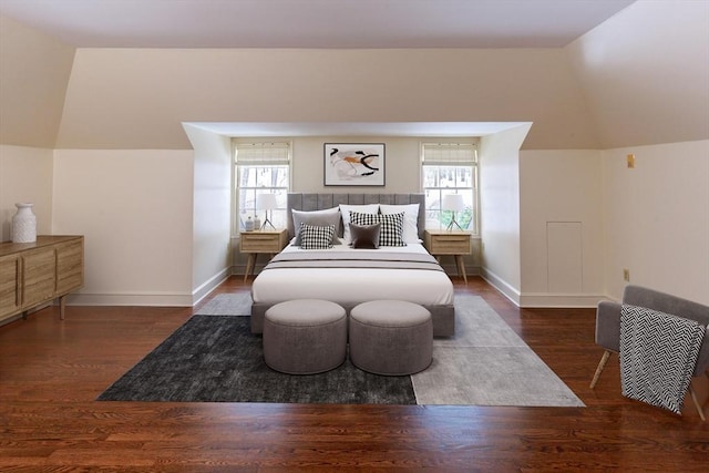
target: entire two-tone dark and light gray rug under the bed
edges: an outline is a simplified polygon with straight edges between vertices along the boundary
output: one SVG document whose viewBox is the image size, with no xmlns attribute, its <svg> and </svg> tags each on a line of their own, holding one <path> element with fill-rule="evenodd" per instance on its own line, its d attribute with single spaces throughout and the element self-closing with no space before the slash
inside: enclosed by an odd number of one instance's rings
<svg viewBox="0 0 709 473">
<path fill-rule="evenodd" d="M 382 403 L 583 407 L 583 402 L 480 297 L 455 299 L 456 331 L 433 342 L 433 362 L 382 377 L 349 360 L 290 376 L 263 361 L 248 294 L 219 295 L 97 399 L 102 401 Z M 217 315 L 216 311 L 222 311 Z"/>
</svg>

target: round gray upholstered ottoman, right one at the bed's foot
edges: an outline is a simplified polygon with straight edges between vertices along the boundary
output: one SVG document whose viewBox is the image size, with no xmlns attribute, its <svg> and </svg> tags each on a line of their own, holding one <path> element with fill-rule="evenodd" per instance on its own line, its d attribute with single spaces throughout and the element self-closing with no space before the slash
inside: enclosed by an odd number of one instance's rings
<svg viewBox="0 0 709 473">
<path fill-rule="evenodd" d="M 431 364 L 431 312 L 404 300 L 372 300 L 350 311 L 350 360 L 376 374 L 402 376 Z"/>
</svg>

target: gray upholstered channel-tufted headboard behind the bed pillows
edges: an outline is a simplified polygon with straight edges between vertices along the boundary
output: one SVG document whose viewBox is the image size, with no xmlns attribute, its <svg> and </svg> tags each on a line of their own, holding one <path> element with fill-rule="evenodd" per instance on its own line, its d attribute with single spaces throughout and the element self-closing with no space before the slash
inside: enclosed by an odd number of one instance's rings
<svg viewBox="0 0 709 473">
<path fill-rule="evenodd" d="M 290 210 L 321 210 L 323 208 L 337 207 L 345 205 L 362 205 L 362 204 L 388 204 L 388 205 L 405 205 L 419 204 L 419 238 L 423 239 L 423 228 L 425 224 L 425 195 L 424 194 L 288 194 L 288 235 L 290 238 L 295 236 L 292 226 L 292 217 Z"/>
</svg>

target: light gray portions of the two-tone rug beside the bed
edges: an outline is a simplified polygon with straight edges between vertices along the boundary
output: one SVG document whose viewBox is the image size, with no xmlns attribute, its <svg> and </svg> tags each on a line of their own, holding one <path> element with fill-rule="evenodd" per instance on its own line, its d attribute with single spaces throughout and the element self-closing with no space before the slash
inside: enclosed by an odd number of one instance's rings
<svg viewBox="0 0 709 473">
<path fill-rule="evenodd" d="M 198 315 L 247 316 L 249 294 L 215 296 Z M 419 404 L 584 407 L 481 298 L 455 296 L 455 336 L 433 340 L 433 362 L 411 377 Z"/>
</svg>

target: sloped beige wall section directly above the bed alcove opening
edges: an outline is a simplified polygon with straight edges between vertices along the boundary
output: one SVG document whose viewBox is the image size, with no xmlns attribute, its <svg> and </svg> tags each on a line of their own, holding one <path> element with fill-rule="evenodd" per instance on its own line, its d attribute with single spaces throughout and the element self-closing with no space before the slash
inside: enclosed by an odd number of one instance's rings
<svg viewBox="0 0 709 473">
<path fill-rule="evenodd" d="M 561 49 L 80 49 L 61 148 L 188 148 L 182 122 L 535 122 L 527 148 L 597 140 Z"/>
</svg>

